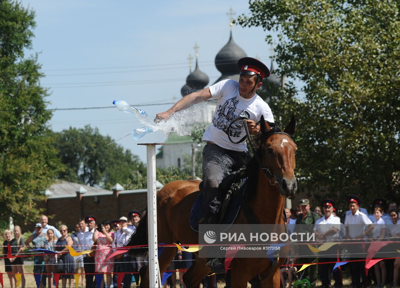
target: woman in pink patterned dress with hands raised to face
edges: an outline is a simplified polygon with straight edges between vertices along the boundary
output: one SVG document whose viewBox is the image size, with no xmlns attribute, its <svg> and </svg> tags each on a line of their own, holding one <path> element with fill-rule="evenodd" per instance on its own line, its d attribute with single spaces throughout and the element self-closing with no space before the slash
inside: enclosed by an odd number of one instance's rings
<svg viewBox="0 0 400 288">
<path fill-rule="evenodd" d="M 94 254 L 94 262 L 96 264 L 96 273 L 108 273 L 106 274 L 107 287 L 110 287 L 112 282 L 111 273 L 114 272 L 114 257 L 103 262 L 113 253 L 112 242 L 114 241 L 114 232 L 110 231 L 111 223 L 108 220 L 104 220 L 97 230 L 93 233 L 93 242 L 97 245 L 96 253 Z M 103 280 L 104 281 L 104 280 Z M 104 282 L 102 282 L 104 287 Z"/>
</svg>

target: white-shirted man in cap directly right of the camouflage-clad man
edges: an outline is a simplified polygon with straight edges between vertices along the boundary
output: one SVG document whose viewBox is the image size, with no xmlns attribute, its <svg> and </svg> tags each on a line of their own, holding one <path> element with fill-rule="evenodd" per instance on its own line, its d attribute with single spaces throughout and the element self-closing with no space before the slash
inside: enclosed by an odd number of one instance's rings
<svg viewBox="0 0 400 288">
<path fill-rule="evenodd" d="M 322 200 L 321 207 L 324 208 L 324 215 L 315 222 L 314 225 L 314 233 L 316 235 L 316 239 L 319 242 L 326 240 L 328 242 L 338 240 L 340 233 L 340 218 L 333 215 L 333 206 L 335 206 L 335 202 L 332 199 L 324 199 Z M 326 242 L 324 241 L 324 242 Z M 326 250 L 324 253 L 325 257 L 320 257 L 318 262 L 332 262 L 336 261 L 338 255 L 337 246 L 332 246 L 330 249 Z M 318 273 L 320 275 L 320 279 L 322 282 L 322 287 L 328 288 L 330 286 L 329 280 L 329 268 L 333 271 L 333 278 L 335 280 L 335 287 L 340 287 L 340 276 L 339 269 L 333 270 L 334 263 L 331 264 L 318 264 Z"/>
</svg>

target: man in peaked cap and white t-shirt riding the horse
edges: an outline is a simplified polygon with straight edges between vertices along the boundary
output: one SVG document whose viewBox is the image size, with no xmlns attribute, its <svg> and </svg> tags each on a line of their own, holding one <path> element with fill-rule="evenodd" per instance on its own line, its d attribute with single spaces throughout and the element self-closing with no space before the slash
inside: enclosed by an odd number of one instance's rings
<svg viewBox="0 0 400 288">
<path fill-rule="evenodd" d="M 222 201 L 219 185 L 222 179 L 233 170 L 246 165 L 249 160 L 246 141 L 234 144 L 228 138 L 239 140 L 246 135 L 243 123 L 236 122 L 233 129 L 228 127 L 237 117 L 247 117 L 248 131 L 256 134 L 260 126 L 256 122 L 261 116 L 274 122 L 271 109 L 256 92 L 262 85 L 262 79 L 270 76 L 268 68 L 259 60 L 251 57 L 241 58 L 237 64 L 240 69 L 239 82 L 232 79 L 222 80 L 210 87 L 191 93 L 178 101 L 165 112 L 158 113 L 154 121 L 168 120 L 172 113 L 186 109 L 210 98 L 218 100 L 212 123 L 204 132 L 202 141 L 207 144 L 203 150 L 203 208 L 204 218 L 201 224 L 218 224 L 218 209 Z M 220 258 L 208 262 L 211 270 L 217 274 L 225 272 Z"/>
</svg>

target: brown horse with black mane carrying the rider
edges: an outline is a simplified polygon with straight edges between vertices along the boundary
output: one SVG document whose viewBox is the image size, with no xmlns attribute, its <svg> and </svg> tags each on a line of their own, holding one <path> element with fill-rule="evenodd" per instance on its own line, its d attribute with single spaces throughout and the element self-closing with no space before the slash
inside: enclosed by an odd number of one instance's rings
<svg viewBox="0 0 400 288">
<path fill-rule="evenodd" d="M 248 187 L 246 187 L 245 201 L 259 224 L 283 224 L 284 198 L 292 197 L 297 190 L 294 176 L 296 144 L 288 135 L 282 132 L 278 125 L 260 120 L 261 131 L 254 139 L 257 153 L 264 165 L 267 165 L 276 177 L 278 185 L 271 181 L 260 169 L 253 157 L 247 165 Z M 294 117 L 284 130 L 292 135 L 296 130 Z M 189 226 L 189 215 L 192 205 L 199 193 L 198 180 L 173 181 L 166 184 L 157 193 L 157 224 L 158 243 L 196 244 L 198 233 Z M 235 224 L 246 224 L 246 216 L 240 211 Z M 146 215 L 137 226 L 126 246 L 148 244 Z M 288 247 L 288 246 L 286 246 Z M 147 248 L 130 249 L 131 256 L 143 255 Z M 176 248 L 165 247 L 158 262 L 160 274 L 167 269 L 176 254 Z M 187 287 L 199 287 L 201 280 L 210 273 L 206 259 L 199 258 L 195 252 L 196 260 L 184 274 L 183 280 Z M 232 287 L 246 287 L 247 282 L 259 275 L 263 287 L 279 287 L 279 268 L 285 258 L 278 258 L 277 265 L 273 265 L 268 258 L 234 258 L 230 264 L 232 269 Z M 140 271 L 141 287 L 148 287 L 148 267 Z"/>
</svg>

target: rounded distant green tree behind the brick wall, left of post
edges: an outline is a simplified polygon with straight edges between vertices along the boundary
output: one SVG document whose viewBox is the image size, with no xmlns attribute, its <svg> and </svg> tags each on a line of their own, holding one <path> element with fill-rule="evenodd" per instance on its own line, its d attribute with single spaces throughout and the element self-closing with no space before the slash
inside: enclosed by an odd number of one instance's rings
<svg viewBox="0 0 400 288">
<path fill-rule="evenodd" d="M 65 171 L 58 175 L 60 179 L 111 189 L 117 182 L 127 183 L 134 176 L 132 171 L 146 171 L 138 156 L 118 144 L 108 145 L 114 140 L 90 125 L 80 129 L 70 127 L 57 136 L 55 146 L 66 165 Z"/>
</svg>

